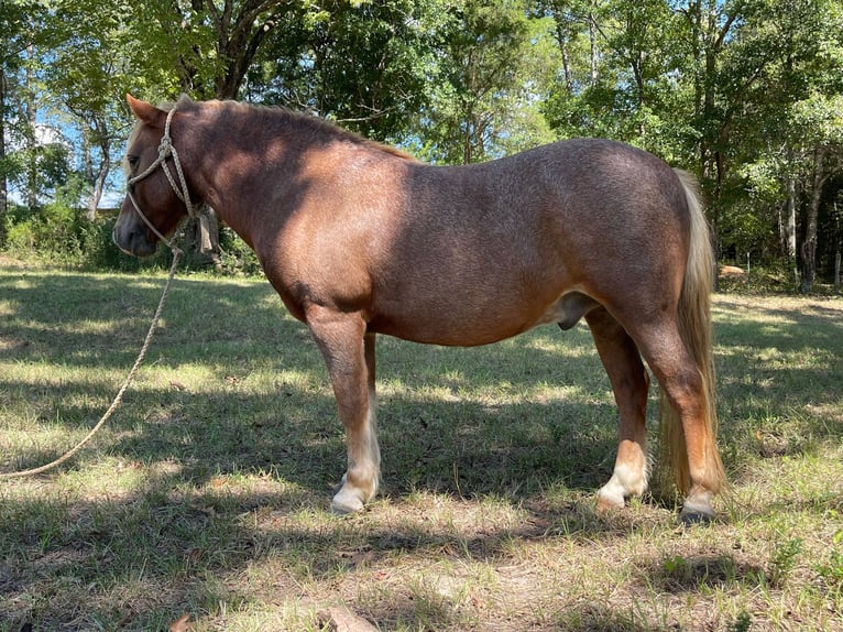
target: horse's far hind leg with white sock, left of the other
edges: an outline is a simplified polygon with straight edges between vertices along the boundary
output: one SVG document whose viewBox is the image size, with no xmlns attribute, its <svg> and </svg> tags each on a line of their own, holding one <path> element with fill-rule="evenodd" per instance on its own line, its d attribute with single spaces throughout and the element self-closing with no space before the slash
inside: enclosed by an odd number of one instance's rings
<svg viewBox="0 0 843 632">
<path fill-rule="evenodd" d="M 627 495 L 647 489 L 645 411 L 649 378 L 635 342 L 605 308 L 591 310 L 585 322 L 609 373 L 621 419 L 614 472 L 601 488 L 598 504 L 600 509 L 623 506 Z"/>
</svg>

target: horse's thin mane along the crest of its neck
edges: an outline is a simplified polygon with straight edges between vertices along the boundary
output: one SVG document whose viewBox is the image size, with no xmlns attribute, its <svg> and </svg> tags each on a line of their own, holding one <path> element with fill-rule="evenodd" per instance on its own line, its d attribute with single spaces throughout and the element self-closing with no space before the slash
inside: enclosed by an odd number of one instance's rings
<svg viewBox="0 0 843 632">
<path fill-rule="evenodd" d="M 354 132 L 343 130 L 339 126 L 333 124 L 319 117 L 297 112 L 288 108 L 280 106 L 255 106 L 251 103 L 244 103 L 241 101 L 223 100 L 223 101 L 194 101 L 187 95 L 182 95 L 175 103 L 162 103 L 158 106 L 163 110 L 171 110 L 174 107 L 183 111 L 195 111 L 201 108 L 212 107 L 219 108 L 223 111 L 223 116 L 236 116 L 237 113 L 254 111 L 264 112 L 270 117 L 277 118 L 280 122 L 286 122 L 288 124 L 296 124 L 297 127 L 307 127 L 315 133 L 325 135 L 326 138 L 342 139 L 347 142 L 368 146 L 374 150 L 385 152 L 387 154 L 417 162 L 417 159 L 405 151 L 366 139 Z M 134 132 L 133 132 L 134 133 Z M 130 139 L 131 140 L 131 139 Z"/>
</svg>

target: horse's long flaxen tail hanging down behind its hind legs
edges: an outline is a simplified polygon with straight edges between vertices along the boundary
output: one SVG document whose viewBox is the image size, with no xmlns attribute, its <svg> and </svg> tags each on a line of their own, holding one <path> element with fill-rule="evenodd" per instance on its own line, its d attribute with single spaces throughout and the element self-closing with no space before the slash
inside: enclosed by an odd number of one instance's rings
<svg viewBox="0 0 843 632">
<path fill-rule="evenodd" d="M 685 282 L 679 295 L 679 334 L 688 353 L 702 377 L 705 400 L 705 480 L 712 492 L 725 488 L 725 473 L 716 448 L 718 412 L 714 389 L 713 336 L 711 328 L 711 286 L 714 279 L 714 252 L 709 225 L 700 203 L 697 182 L 690 174 L 676 170 L 685 189 L 691 220 L 691 239 Z M 667 465 L 679 492 L 685 495 L 691 486 L 685 431 L 664 389 L 659 401 L 659 461 Z M 666 490 L 661 490 L 666 491 Z"/>
</svg>

